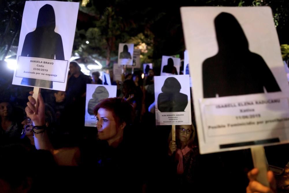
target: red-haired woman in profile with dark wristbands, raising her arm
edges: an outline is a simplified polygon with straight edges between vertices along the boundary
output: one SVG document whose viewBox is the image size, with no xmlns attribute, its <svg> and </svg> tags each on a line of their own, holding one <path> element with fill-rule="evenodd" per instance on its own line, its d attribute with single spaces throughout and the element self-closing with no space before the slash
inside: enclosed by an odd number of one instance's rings
<svg viewBox="0 0 289 193">
<path fill-rule="evenodd" d="M 33 94 L 33 91 L 30 92 Z M 32 96 L 25 111 L 34 125 L 34 142 L 37 149 L 51 150 L 49 138 L 45 126 L 45 105 L 41 94 L 38 95 L 38 109 L 34 107 L 36 101 Z M 34 114 L 37 111 L 37 114 Z M 113 190 L 140 190 L 136 166 L 138 161 L 131 162 L 136 158 L 137 150 L 134 150 L 129 138 L 125 137 L 125 130 L 129 130 L 134 117 L 134 111 L 129 102 L 123 98 L 108 98 L 95 107 L 97 118 L 97 130 L 99 141 L 84 144 L 78 152 L 68 152 L 70 157 L 80 156 L 80 166 L 83 166 L 85 188 L 97 183 L 98 190 L 111 192 Z M 36 132 L 35 132 L 36 131 Z M 128 135 L 129 136 L 129 135 Z M 135 139 L 137 140 L 137 139 Z M 131 154 L 134 151 L 134 155 Z M 55 153 L 53 153 L 55 157 Z M 55 157 L 58 164 L 65 162 L 66 157 Z M 88 168 L 87 168 L 88 167 Z M 131 172 L 131 173 L 130 173 Z M 89 173 L 89 174 L 88 174 Z M 123 174 L 126 173 L 124 176 Z M 97 175 L 95 175 L 97 174 Z M 111 184 L 114 186 L 111 186 Z M 110 191 L 111 190 L 111 191 Z"/>
</svg>

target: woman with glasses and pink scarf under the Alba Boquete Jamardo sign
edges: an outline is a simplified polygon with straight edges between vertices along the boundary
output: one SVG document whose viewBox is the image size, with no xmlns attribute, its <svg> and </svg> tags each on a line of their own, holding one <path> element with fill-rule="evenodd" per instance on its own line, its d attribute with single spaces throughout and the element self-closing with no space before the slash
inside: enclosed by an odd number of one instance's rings
<svg viewBox="0 0 289 193">
<path fill-rule="evenodd" d="M 169 142 L 168 155 L 174 159 L 177 183 L 180 192 L 187 190 L 194 183 L 194 168 L 199 155 L 196 130 L 193 125 L 177 125 L 176 141 Z M 171 140 L 171 135 L 169 140 Z"/>
</svg>

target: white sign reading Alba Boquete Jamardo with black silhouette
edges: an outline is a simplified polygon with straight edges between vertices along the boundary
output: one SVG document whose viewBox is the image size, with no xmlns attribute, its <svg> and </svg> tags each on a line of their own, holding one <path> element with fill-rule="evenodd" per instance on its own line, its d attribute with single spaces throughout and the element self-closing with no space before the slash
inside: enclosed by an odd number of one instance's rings
<svg viewBox="0 0 289 193">
<path fill-rule="evenodd" d="M 156 125 L 192 124 L 189 76 L 155 76 L 154 79 Z"/>
</svg>

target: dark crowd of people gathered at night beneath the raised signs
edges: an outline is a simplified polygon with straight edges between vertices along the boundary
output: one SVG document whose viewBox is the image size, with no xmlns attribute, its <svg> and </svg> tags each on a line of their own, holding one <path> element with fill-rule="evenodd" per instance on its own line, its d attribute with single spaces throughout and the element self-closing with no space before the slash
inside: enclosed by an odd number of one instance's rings
<svg viewBox="0 0 289 193">
<path fill-rule="evenodd" d="M 117 97 L 90 109 L 96 127 L 85 127 L 86 84 L 102 84 L 99 72 L 90 78 L 72 61 L 66 91 L 42 89 L 36 108 L 33 88 L 12 85 L 13 73 L 1 68 L 0 192 L 249 193 L 289 186 L 285 163 L 279 176 L 268 173 L 272 187 L 264 189 L 249 149 L 201 155 L 193 108 L 192 125 L 177 126 L 172 140 L 171 126 L 155 125 L 153 69 L 144 78 L 142 71 L 124 74 L 121 82 L 111 76 Z"/>
</svg>

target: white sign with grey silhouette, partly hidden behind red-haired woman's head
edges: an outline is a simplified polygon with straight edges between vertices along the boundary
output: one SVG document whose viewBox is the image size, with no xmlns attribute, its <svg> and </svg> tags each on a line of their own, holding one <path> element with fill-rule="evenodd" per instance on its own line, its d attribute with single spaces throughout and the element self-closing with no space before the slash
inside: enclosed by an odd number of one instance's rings
<svg viewBox="0 0 289 193">
<path fill-rule="evenodd" d="M 93 113 L 99 102 L 106 98 L 116 97 L 116 86 L 101 84 L 86 84 L 85 124 L 87 127 L 96 127 L 96 118 Z"/>
</svg>

